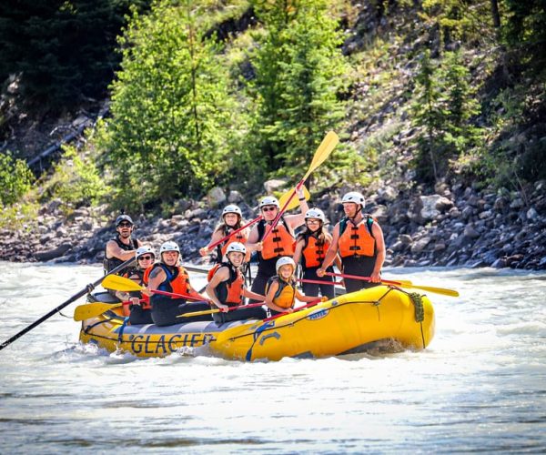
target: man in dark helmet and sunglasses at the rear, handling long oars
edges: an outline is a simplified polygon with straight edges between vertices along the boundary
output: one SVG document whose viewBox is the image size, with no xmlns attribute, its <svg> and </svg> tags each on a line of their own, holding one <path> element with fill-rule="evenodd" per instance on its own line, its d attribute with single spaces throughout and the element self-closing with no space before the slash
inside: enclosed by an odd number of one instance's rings
<svg viewBox="0 0 546 455">
<path fill-rule="evenodd" d="M 116 268 L 130 258 L 135 258 L 136 248 L 142 247 L 142 242 L 133 238 L 133 229 L 135 223 L 128 215 L 120 215 L 116 218 L 115 238 L 106 242 L 104 268 L 105 273 Z M 126 270 L 121 270 L 118 275 L 122 275 Z"/>
</svg>

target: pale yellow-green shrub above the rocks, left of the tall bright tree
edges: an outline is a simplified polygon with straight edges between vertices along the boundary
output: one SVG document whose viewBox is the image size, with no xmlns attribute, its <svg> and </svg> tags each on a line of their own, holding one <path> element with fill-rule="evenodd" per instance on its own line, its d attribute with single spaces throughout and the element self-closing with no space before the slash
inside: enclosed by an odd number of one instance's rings
<svg viewBox="0 0 546 455">
<path fill-rule="evenodd" d="M 75 147 L 63 147 L 65 153 L 44 186 L 42 199 L 59 198 L 66 211 L 103 202 L 110 188 L 100 177 L 91 154 L 78 154 Z"/>
</svg>

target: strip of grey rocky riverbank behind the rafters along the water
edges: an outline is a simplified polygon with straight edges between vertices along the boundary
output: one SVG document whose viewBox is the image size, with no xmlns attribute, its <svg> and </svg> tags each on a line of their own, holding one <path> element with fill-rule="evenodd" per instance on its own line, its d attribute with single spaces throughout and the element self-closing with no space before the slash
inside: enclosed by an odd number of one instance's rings
<svg viewBox="0 0 546 455">
<path fill-rule="evenodd" d="M 352 188 L 351 188 L 352 189 Z M 379 221 L 393 267 L 546 268 L 546 182 L 525 192 L 479 191 L 460 184 L 440 185 L 435 194 L 380 187 L 367 195 L 367 212 Z M 322 208 L 331 226 L 342 216 L 339 195 L 310 201 Z M 135 235 L 154 248 L 175 240 L 185 261 L 206 262 L 197 249 L 207 244 L 227 203 L 238 204 L 247 219 L 257 216 L 256 201 L 219 188 L 204 200 L 180 200 L 169 218 L 131 214 Z M 55 200 L 41 208 L 37 229 L 0 231 L 0 259 L 9 261 L 102 262 L 115 231 L 115 214 L 106 207 L 80 207 L 69 217 Z M 218 208 L 220 207 L 220 208 Z"/>
</svg>

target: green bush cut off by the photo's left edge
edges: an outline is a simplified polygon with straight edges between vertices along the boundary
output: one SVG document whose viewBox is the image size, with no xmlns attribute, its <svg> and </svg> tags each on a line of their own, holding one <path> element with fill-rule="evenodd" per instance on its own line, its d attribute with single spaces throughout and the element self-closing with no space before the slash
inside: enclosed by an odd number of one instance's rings
<svg viewBox="0 0 546 455">
<path fill-rule="evenodd" d="M 22 159 L 0 153 L 0 207 L 15 204 L 30 189 L 34 176 Z"/>
</svg>

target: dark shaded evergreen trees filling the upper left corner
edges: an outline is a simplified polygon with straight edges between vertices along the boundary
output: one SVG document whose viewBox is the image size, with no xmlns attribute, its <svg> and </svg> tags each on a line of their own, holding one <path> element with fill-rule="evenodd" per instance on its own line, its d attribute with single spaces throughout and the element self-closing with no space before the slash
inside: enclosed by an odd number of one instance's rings
<svg viewBox="0 0 546 455">
<path fill-rule="evenodd" d="M 0 78 L 21 75 L 25 101 L 64 107 L 104 96 L 118 63 L 116 35 L 129 5 L 149 0 L 0 3 Z"/>
</svg>

